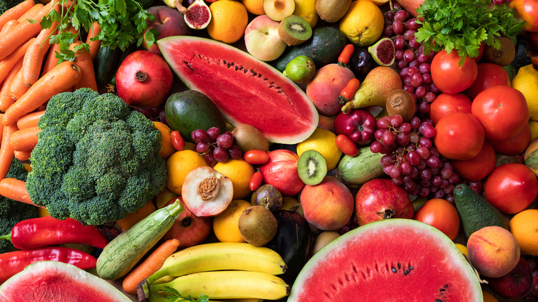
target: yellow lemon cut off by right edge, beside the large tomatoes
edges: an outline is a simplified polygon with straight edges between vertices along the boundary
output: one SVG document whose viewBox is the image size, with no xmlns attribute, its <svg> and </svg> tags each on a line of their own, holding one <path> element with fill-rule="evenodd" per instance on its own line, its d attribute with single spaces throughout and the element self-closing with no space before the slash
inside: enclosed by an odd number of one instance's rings
<svg viewBox="0 0 538 302">
<path fill-rule="evenodd" d="M 532 68 L 532 64 L 519 68 L 512 79 L 512 88 L 519 90 L 525 96 L 530 120 L 538 121 L 538 71 Z"/>
</svg>

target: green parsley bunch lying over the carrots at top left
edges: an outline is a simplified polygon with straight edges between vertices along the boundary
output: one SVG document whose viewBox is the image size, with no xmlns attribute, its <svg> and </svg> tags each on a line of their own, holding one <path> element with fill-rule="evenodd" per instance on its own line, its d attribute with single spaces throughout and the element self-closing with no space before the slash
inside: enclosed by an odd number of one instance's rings
<svg viewBox="0 0 538 302">
<path fill-rule="evenodd" d="M 64 7 L 66 3 L 70 3 L 69 8 Z M 83 41 L 83 32 L 89 32 L 94 21 L 101 26 L 101 32 L 91 41 L 101 40 L 101 46 L 121 50 L 126 50 L 132 43 L 140 46 L 144 39 L 143 32 L 148 28 L 146 21 L 155 21 L 155 17 L 136 0 L 59 0 L 59 4 L 59 12 L 50 10 L 41 19 L 41 28 L 50 28 L 54 21 L 58 21 L 59 33 L 50 37 L 50 43 L 60 44 L 57 58 L 61 61 L 72 61 L 75 53 L 88 50 L 87 43 L 81 43 L 74 50 L 69 50 L 69 45 L 77 37 Z M 65 31 L 70 25 L 77 30 L 77 34 Z M 155 29 L 146 32 L 148 45 L 155 42 L 156 34 Z"/>
</svg>

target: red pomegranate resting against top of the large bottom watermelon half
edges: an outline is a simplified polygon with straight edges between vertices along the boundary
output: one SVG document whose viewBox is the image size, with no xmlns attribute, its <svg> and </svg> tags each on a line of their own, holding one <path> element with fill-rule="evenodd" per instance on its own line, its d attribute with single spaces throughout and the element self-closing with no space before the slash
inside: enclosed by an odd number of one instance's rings
<svg viewBox="0 0 538 302">
<path fill-rule="evenodd" d="M 359 225 L 390 218 L 412 219 L 413 214 L 415 209 L 409 193 L 390 179 L 367 181 L 355 196 L 355 215 Z"/>
</svg>

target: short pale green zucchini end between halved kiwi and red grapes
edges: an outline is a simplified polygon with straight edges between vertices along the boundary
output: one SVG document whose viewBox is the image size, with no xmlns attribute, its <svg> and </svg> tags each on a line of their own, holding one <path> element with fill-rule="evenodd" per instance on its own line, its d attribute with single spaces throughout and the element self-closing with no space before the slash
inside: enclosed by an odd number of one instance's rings
<svg viewBox="0 0 538 302">
<path fill-rule="evenodd" d="M 381 157 L 383 154 L 370 151 L 370 146 L 366 145 L 359 148 L 359 154 L 355 157 L 344 155 L 337 170 L 344 181 L 361 185 L 384 174 Z"/>
</svg>

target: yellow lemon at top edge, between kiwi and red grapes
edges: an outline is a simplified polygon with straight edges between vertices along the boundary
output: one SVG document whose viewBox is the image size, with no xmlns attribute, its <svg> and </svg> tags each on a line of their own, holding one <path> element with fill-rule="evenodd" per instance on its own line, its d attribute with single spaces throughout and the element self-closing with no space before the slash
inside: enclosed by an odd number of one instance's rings
<svg viewBox="0 0 538 302">
<path fill-rule="evenodd" d="M 375 43 L 383 33 L 383 25 L 383 12 L 368 0 L 353 1 L 340 19 L 340 30 L 358 46 Z"/>
</svg>

